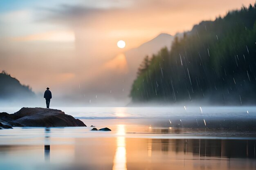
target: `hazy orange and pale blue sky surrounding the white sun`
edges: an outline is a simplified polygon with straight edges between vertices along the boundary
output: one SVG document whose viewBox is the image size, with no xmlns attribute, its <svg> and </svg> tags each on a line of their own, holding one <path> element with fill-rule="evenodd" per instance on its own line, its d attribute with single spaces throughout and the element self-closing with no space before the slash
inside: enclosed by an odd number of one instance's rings
<svg viewBox="0 0 256 170">
<path fill-rule="evenodd" d="M 125 51 L 159 33 L 189 31 L 202 20 L 214 20 L 254 2 L 0 0 L 0 71 L 7 71 L 36 93 L 50 86 L 58 97 L 95 98 L 103 91 L 115 91 L 99 87 L 108 84 L 104 77 L 111 77 L 111 71 L 128 72 Z M 117 47 L 118 40 L 126 42 L 124 49 Z M 125 91 L 122 99 L 128 102 L 129 89 Z M 111 93 L 106 98 L 119 100 Z"/>
</svg>

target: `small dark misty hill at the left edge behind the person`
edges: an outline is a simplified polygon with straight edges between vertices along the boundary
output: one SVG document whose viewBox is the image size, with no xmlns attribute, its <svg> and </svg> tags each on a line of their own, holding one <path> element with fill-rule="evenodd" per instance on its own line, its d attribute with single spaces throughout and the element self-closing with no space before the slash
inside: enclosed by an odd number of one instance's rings
<svg viewBox="0 0 256 170">
<path fill-rule="evenodd" d="M 16 78 L 11 77 L 5 71 L 0 73 L 0 100 L 4 102 L 28 97 L 35 97 L 35 93 L 29 86 L 20 84 Z"/>
</svg>

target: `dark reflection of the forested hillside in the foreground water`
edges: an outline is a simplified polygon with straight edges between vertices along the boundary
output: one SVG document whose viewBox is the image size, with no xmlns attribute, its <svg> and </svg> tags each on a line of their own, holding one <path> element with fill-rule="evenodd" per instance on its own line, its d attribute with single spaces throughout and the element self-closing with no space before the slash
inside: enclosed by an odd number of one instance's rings
<svg viewBox="0 0 256 170">
<path fill-rule="evenodd" d="M 175 152 L 191 155 L 193 159 L 216 158 L 255 158 L 256 140 L 231 139 L 148 139 L 148 156 Z M 183 152 L 183 153 L 182 153 Z"/>
</svg>

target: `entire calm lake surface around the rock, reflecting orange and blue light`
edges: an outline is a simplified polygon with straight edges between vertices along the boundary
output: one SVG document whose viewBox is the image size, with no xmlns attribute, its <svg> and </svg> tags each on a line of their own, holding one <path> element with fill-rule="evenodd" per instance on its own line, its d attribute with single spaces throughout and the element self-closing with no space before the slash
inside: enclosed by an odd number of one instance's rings
<svg viewBox="0 0 256 170">
<path fill-rule="evenodd" d="M 58 109 L 88 127 L 0 130 L 1 170 L 256 169 L 256 107 Z"/>
</svg>

